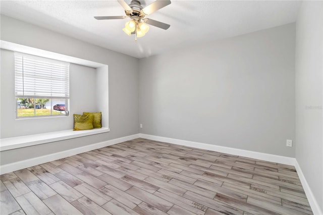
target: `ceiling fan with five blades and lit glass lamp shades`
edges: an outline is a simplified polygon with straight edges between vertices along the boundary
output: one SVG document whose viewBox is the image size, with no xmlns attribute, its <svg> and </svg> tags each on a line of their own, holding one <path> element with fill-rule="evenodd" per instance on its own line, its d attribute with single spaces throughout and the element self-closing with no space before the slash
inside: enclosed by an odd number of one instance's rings
<svg viewBox="0 0 323 215">
<path fill-rule="evenodd" d="M 126 27 L 123 29 L 123 31 L 128 35 L 135 34 L 135 41 L 137 41 L 137 37 L 142 37 L 148 32 L 148 25 L 165 30 L 170 27 L 169 24 L 145 18 L 145 16 L 170 5 L 170 0 L 157 0 L 145 8 L 141 6 L 141 3 L 138 0 L 132 0 L 130 5 L 128 5 L 124 0 L 118 0 L 118 3 L 125 9 L 126 16 L 102 16 L 94 18 L 97 20 L 130 18 L 131 20 L 126 22 Z"/>
</svg>

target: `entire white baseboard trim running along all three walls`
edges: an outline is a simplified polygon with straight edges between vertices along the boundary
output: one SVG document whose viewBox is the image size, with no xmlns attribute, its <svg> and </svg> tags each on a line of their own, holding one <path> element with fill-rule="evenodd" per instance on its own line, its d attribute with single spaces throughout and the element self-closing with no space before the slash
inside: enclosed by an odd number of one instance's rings
<svg viewBox="0 0 323 215">
<path fill-rule="evenodd" d="M 121 138 L 116 138 L 112 140 L 107 140 L 87 146 L 82 146 L 62 152 L 57 152 L 53 154 L 48 154 L 44 156 L 39 156 L 39 157 L 34 157 L 31 159 L 27 160 L 22 160 L 19 162 L 7 164 L 7 165 L 2 165 L 0 166 L 0 173 L 1 174 L 6 174 L 10 172 L 14 172 L 17 170 L 21 170 L 24 168 L 36 166 L 39 164 L 51 162 L 53 160 L 61 159 L 64 157 L 72 156 L 75 154 L 83 153 L 86 151 L 91 151 L 95 150 L 98 148 L 114 145 L 117 143 L 133 140 L 136 138 L 145 138 L 145 139 L 150 139 L 154 141 L 161 141 L 161 142 L 166 142 L 166 143 L 173 143 L 177 145 L 183 145 L 183 146 L 189 146 L 189 147 L 194 147 L 194 148 L 200 148 L 200 149 L 206 149 L 206 150 L 211 150 L 211 151 L 218 151 L 222 153 L 228 153 L 228 154 L 233 154 L 233 155 L 239 155 L 239 156 L 244 156 L 244 157 L 250 157 L 254 159 L 261 159 L 265 160 L 268 162 L 274 162 L 274 163 L 280 163 L 280 164 L 285 164 L 285 165 L 292 165 L 295 167 L 298 176 L 300 178 L 301 184 L 303 186 L 303 189 L 305 191 L 305 194 L 307 196 L 307 199 L 309 201 L 309 204 L 312 208 L 312 211 L 314 214 L 322 214 L 322 211 L 320 211 L 319 205 L 306 181 L 306 178 L 301 171 L 300 166 L 297 163 L 297 160 L 293 157 L 286 157 L 286 156 L 280 156 L 280 155 L 275 155 L 275 154 L 267 154 L 267 153 L 261 153 L 261 152 L 256 152 L 256 151 L 249 151 L 249 150 L 243 150 L 243 149 L 237 149 L 237 148 L 230 148 L 230 147 L 225 147 L 225 146 L 219 146 L 219 145 L 211 145 L 211 144 L 206 144 L 206 143 L 199 143 L 199 142 L 192 142 L 192 141 L 187 141 L 187 140 L 180 140 L 180 139 L 174 139 L 174 138 L 168 138 L 168 137 L 160 137 L 160 136 L 154 136 L 154 135 L 148 135 L 148 134 L 134 134 L 126 137 L 121 137 Z"/>
</svg>

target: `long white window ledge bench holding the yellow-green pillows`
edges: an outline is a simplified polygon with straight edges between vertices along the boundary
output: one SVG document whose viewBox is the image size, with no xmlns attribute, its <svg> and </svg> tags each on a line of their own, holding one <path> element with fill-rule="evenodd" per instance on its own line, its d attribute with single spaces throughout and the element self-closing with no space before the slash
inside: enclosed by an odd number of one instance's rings
<svg viewBox="0 0 323 215">
<path fill-rule="evenodd" d="M 42 134 L 33 134 L 27 136 L 10 137 L 0 139 L 0 151 L 6 151 L 15 148 L 22 148 L 26 146 L 38 145 L 43 143 L 55 142 L 60 140 L 67 140 L 76 137 L 84 137 L 93 134 L 100 134 L 109 132 L 110 128 L 96 128 L 92 130 L 73 131 L 64 130 Z"/>
</svg>

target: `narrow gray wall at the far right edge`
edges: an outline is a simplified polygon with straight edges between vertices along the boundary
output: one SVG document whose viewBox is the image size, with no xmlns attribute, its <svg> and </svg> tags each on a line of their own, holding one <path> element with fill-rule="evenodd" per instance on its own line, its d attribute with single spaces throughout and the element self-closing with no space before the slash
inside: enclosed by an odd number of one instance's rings
<svg viewBox="0 0 323 215">
<path fill-rule="evenodd" d="M 303 2 L 296 25 L 296 159 L 323 211 L 323 3 Z"/>
</svg>

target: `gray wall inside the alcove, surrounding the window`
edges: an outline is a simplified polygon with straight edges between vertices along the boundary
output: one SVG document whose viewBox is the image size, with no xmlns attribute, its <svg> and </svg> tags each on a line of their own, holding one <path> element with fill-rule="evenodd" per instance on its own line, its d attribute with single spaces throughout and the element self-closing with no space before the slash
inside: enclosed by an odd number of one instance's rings
<svg viewBox="0 0 323 215">
<path fill-rule="evenodd" d="M 73 129 L 73 114 L 99 111 L 96 69 L 70 64 L 70 116 L 16 120 L 14 62 L 14 51 L 1 49 L 1 138 Z"/>
</svg>

